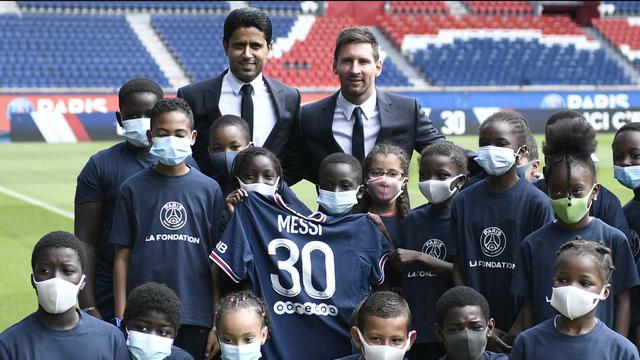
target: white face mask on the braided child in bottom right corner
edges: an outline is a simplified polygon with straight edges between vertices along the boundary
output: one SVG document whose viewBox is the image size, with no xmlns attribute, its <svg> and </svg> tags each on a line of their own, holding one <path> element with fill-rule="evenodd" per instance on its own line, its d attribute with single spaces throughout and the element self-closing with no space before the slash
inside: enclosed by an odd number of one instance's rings
<svg viewBox="0 0 640 360">
<path fill-rule="evenodd" d="M 600 294 L 580 289 L 575 286 L 553 288 L 551 306 L 569 319 L 577 319 L 595 309 L 600 300 L 604 300 L 604 289 Z"/>
</svg>

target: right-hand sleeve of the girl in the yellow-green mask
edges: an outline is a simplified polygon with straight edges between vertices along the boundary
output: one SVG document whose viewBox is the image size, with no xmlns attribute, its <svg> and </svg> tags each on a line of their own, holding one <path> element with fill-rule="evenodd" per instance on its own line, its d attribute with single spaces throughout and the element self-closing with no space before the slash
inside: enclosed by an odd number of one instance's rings
<svg viewBox="0 0 640 360">
<path fill-rule="evenodd" d="M 619 295 L 626 290 L 640 284 L 638 278 L 638 268 L 633 260 L 631 247 L 624 234 L 620 233 L 619 237 L 612 242 L 613 264 L 613 293 Z"/>
</svg>

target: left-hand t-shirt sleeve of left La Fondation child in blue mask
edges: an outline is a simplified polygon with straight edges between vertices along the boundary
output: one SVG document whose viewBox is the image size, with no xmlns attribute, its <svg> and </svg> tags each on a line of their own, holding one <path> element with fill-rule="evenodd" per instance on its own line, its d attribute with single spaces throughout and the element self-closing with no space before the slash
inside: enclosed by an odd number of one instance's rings
<svg viewBox="0 0 640 360">
<path fill-rule="evenodd" d="M 135 216 L 131 203 L 130 189 L 125 183 L 118 191 L 109 243 L 128 248 L 133 247 L 136 234 Z"/>
</svg>

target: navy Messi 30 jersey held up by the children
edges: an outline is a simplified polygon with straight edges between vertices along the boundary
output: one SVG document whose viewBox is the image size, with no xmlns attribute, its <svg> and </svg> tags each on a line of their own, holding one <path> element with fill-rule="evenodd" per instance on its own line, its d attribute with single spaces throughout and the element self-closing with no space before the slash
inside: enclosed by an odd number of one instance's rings
<svg viewBox="0 0 640 360">
<path fill-rule="evenodd" d="M 210 258 L 267 303 L 265 359 L 352 354 L 351 315 L 384 281 L 389 243 L 365 214 L 304 216 L 275 199 L 249 193 Z"/>
</svg>

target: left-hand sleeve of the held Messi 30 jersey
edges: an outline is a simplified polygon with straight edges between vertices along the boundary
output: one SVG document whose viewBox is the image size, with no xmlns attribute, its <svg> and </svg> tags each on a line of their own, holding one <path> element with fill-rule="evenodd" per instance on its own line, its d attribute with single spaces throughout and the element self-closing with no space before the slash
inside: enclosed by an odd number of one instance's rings
<svg viewBox="0 0 640 360">
<path fill-rule="evenodd" d="M 209 259 L 236 283 L 247 277 L 249 263 L 253 261 L 253 254 L 242 220 L 248 215 L 246 214 L 246 206 L 243 205 L 244 203 L 236 208 L 220 241 L 209 254 Z"/>
</svg>

